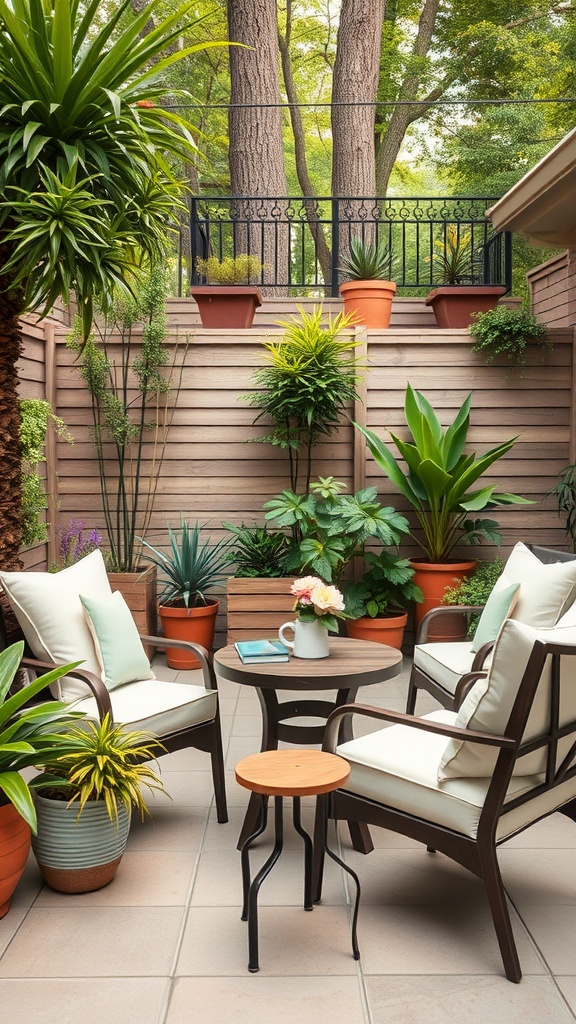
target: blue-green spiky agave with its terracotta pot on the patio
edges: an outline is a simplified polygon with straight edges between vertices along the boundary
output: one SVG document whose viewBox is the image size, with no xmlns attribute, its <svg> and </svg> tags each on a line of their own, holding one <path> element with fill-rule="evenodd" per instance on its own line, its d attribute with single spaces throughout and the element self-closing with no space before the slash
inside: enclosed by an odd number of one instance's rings
<svg viewBox="0 0 576 1024">
<path fill-rule="evenodd" d="M 192 640 L 210 650 L 214 640 L 219 601 L 206 597 L 207 591 L 228 575 L 228 552 L 231 541 L 222 538 L 215 544 L 202 540 L 202 526 L 186 520 L 179 530 L 168 527 L 170 553 L 142 544 L 152 554 L 143 552 L 160 570 L 163 584 L 158 612 L 164 636 L 169 640 Z M 177 647 L 166 648 L 166 662 L 171 669 L 197 669 L 200 662 Z"/>
</svg>

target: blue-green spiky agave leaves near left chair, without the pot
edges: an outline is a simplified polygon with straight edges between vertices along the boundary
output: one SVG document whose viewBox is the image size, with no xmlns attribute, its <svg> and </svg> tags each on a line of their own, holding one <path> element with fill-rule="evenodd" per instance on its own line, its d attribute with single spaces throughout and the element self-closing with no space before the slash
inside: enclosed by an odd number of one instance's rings
<svg viewBox="0 0 576 1024">
<path fill-rule="evenodd" d="M 186 520 L 180 523 L 179 531 L 169 526 L 171 555 L 139 538 L 152 552 L 151 555 L 143 552 L 145 558 L 158 566 L 161 580 L 164 577 L 161 603 L 186 608 L 206 604 L 206 591 L 230 574 L 228 554 L 232 539 L 222 538 L 210 544 L 202 541 L 201 531 L 200 523 L 191 526 Z"/>
</svg>

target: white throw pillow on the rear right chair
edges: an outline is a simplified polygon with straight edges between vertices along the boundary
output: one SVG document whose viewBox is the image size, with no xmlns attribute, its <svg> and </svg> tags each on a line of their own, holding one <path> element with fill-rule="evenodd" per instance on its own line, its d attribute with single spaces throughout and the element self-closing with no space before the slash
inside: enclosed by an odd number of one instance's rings
<svg viewBox="0 0 576 1024">
<path fill-rule="evenodd" d="M 537 629 L 556 626 L 576 597 L 576 559 L 544 564 L 522 542 L 502 574 L 507 584 L 520 584 L 511 617 Z"/>
</svg>

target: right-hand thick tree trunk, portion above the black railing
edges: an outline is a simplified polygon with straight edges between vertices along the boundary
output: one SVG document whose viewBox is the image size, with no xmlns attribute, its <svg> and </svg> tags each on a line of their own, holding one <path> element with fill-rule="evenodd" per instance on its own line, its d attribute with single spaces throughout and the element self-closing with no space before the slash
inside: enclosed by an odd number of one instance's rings
<svg viewBox="0 0 576 1024">
<path fill-rule="evenodd" d="M 374 103 L 384 0 L 342 0 L 332 100 Z M 332 109 L 332 195 L 373 197 L 376 188 L 373 105 Z"/>
</svg>

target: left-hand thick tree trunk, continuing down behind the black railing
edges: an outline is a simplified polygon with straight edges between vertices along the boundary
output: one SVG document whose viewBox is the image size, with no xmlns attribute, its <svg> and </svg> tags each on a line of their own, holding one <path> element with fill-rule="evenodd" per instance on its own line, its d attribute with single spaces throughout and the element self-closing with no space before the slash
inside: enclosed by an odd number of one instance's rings
<svg viewBox="0 0 576 1024">
<path fill-rule="evenodd" d="M 263 199 L 286 197 L 276 0 L 228 0 L 228 22 L 230 40 L 245 44 L 230 49 L 231 193 Z M 270 223 L 272 206 L 261 200 L 241 205 L 236 251 L 259 256 L 271 274 L 276 267 L 277 276 L 287 282 L 284 205 L 274 204 L 277 219 Z M 266 224 L 263 218 L 260 221 L 261 214 L 265 214 Z M 275 290 L 275 294 L 279 292 Z"/>
</svg>

